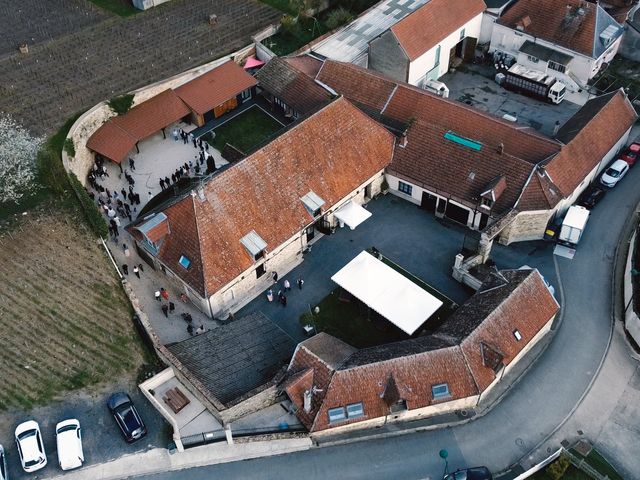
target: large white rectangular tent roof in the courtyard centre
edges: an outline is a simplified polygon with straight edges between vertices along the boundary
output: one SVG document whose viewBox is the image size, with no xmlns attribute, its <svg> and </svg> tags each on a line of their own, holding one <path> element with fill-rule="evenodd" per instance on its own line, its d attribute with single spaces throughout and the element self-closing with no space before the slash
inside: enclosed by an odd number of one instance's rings
<svg viewBox="0 0 640 480">
<path fill-rule="evenodd" d="M 361 252 L 331 280 L 409 335 L 442 302 L 368 252 Z"/>
</svg>

